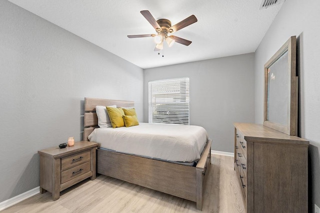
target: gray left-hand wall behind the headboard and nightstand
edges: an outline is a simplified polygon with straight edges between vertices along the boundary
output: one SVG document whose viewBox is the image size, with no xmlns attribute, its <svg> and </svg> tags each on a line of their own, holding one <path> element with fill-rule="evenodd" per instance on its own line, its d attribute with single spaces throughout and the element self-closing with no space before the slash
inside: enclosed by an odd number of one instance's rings
<svg viewBox="0 0 320 213">
<path fill-rule="evenodd" d="M 135 101 L 143 121 L 141 68 L 6 0 L 0 73 L 0 202 L 39 186 L 37 150 L 80 140 L 84 97 Z"/>
</svg>

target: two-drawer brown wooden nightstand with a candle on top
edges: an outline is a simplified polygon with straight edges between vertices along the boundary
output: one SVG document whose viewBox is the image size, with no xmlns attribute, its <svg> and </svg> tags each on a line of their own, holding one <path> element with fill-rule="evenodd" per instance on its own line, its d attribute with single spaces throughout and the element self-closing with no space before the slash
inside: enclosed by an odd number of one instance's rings
<svg viewBox="0 0 320 213">
<path fill-rule="evenodd" d="M 80 141 L 72 147 L 39 150 L 40 194 L 48 191 L 55 201 L 62 190 L 87 178 L 94 180 L 97 146 L 94 142 Z"/>
</svg>

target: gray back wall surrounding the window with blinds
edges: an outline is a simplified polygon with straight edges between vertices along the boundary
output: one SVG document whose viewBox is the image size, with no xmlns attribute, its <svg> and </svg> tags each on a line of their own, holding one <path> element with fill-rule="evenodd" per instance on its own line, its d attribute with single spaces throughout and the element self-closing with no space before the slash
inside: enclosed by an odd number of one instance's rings
<svg viewBox="0 0 320 213">
<path fill-rule="evenodd" d="M 233 153 L 233 122 L 254 122 L 253 59 L 249 53 L 145 69 L 144 122 L 148 121 L 148 82 L 189 77 L 190 125 L 207 130 L 212 150 Z"/>
</svg>

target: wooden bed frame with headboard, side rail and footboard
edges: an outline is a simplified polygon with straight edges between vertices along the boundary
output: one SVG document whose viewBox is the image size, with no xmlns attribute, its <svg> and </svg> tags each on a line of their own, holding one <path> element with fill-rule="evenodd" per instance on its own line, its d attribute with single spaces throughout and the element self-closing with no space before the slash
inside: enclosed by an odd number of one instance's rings
<svg viewBox="0 0 320 213">
<path fill-rule="evenodd" d="M 98 128 L 96 105 L 128 107 L 134 102 L 84 98 L 84 141 Z M 196 202 L 196 209 L 202 210 L 211 143 L 210 139 L 206 142 L 196 167 L 97 149 L 97 173 Z"/>
</svg>

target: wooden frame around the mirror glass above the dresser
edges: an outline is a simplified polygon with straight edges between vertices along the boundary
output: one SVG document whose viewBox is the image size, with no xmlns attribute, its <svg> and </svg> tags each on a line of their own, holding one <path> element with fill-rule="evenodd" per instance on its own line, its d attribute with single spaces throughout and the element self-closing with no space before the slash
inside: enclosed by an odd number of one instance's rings
<svg viewBox="0 0 320 213">
<path fill-rule="evenodd" d="M 268 120 L 268 68 L 276 62 L 284 53 L 288 52 L 288 103 L 286 124 L 276 123 Z M 298 77 L 296 76 L 296 37 L 291 36 L 281 48 L 264 64 L 264 116 L 263 125 L 283 132 L 287 135 L 297 135 L 297 105 L 298 105 Z"/>
</svg>

